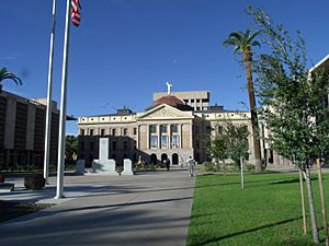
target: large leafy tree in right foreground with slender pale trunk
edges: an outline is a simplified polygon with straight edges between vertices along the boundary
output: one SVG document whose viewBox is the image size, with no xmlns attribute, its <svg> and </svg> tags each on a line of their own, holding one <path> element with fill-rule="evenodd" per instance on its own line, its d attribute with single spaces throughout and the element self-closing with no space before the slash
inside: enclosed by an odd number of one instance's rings
<svg viewBox="0 0 329 246">
<path fill-rule="evenodd" d="M 304 174 L 313 238 L 318 243 L 309 167 L 329 150 L 328 110 L 324 104 L 328 96 L 328 74 L 319 70 L 309 73 L 299 32 L 292 37 L 283 25 L 274 25 L 263 10 L 250 9 L 250 13 L 270 47 L 269 54 L 259 56 L 256 66 L 262 118 L 271 131 L 269 142 Z"/>
</svg>

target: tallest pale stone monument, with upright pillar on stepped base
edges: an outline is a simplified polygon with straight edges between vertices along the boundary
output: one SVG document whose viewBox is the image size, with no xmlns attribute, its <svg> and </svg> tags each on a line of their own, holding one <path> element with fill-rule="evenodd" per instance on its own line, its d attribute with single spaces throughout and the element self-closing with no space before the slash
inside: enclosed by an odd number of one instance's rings
<svg viewBox="0 0 329 246">
<path fill-rule="evenodd" d="M 109 159 L 109 138 L 100 138 L 99 150 L 99 159 L 93 160 L 92 162 L 92 173 L 118 175 L 115 171 L 115 161 L 113 159 Z"/>
</svg>

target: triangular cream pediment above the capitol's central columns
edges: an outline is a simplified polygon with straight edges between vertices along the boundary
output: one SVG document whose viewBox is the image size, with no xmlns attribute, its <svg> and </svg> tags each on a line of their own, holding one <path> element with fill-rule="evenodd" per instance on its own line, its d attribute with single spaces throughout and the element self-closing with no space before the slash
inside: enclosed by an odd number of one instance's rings
<svg viewBox="0 0 329 246">
<path fill-rule="evenodd" d="M 143 114 L 138 119 L 191 119 L 194 118 L 192 112 L 182 112 L 167 104 L 158 105 Z"/>
</svg>

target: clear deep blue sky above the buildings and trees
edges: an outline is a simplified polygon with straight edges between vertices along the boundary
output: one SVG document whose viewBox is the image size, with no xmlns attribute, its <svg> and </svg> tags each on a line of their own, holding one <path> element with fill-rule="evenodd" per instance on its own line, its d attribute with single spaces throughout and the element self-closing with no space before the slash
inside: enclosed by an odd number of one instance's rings
<svg viewBox="0 0 329 246">
<path fill-rule="evenodd" d="M 308 65 L 329 54 L 328 0 L 80 0 L 81 24 L 70 27 L 67 114 L 144 112 L 154 92 L 209 91 L 211 104 L 246 109 L 246 77 L 223 42 L 252 26 L 248 5 L 306 40 Z M 47 96 L 53 0 L 0 0 L 0 68 L 22 81 L 3 90 Z M 60 102 L 66 0 L 57 0 L 53 99 Z M 261 51 L 261 50 L 260 50 Z M 59 105 L 59 103 L 58 103 Z M 77 134 L 77 121 L 67 133 Z"/>
</svg>

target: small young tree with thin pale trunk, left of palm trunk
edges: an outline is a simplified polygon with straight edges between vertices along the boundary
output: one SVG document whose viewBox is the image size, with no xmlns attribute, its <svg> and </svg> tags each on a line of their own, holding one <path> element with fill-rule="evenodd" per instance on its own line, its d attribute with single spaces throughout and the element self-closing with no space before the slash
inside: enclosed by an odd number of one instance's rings
<svg viewBox="0 0 329 246">
<path fill-rule="evenodd" d="M 231 121 L 227 121 L 227 126 L 226 126 L 227 153 L 228 156 L 240 168 L 242 188 L 245 188 L 243 162 L 249 155 L 248 136 L 249 136 L 249 131 L 247 126 L 232 125 Z"/>
</svg>

